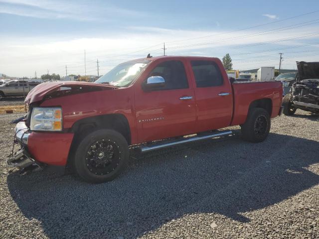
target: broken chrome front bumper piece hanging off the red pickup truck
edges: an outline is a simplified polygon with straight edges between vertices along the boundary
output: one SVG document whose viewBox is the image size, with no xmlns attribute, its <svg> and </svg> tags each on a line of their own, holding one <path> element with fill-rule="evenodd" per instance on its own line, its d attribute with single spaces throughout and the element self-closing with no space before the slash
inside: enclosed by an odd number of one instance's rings
<svg viewBox="0 0 319 239">
<path fill-rule="evenodd" d="M 14 128 L 14 143 L 18 143 L 20 145 L 20 149 L 9 155 L 7 160 L 7 164 L 9 167 L 16 167 L 19 169 L 26 169 L 30 166 L 40 167 L 44 166 L 43 163 L 37 162 L 33 159 L 30 153 L 27 151 L 28 138 L 30 135 L 29 128 L 26 126 L 24 121 L 20 121 L 16 124 Z M 14 144 L 13 144 L 14 148 Z"/>
</svg>

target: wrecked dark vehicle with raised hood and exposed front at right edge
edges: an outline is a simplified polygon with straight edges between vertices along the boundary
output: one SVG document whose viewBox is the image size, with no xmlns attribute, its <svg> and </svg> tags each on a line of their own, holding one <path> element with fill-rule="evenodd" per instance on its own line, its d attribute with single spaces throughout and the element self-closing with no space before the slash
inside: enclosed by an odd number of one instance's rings
<svg viewBox="0 0 319 239">
<path fill-rule="evenodd" d="M 297 82 L 284 97 L 284 114 L 294 115 L 297 109 L 319 114 L 319 62 L 297 62 Z"/>
</svg>

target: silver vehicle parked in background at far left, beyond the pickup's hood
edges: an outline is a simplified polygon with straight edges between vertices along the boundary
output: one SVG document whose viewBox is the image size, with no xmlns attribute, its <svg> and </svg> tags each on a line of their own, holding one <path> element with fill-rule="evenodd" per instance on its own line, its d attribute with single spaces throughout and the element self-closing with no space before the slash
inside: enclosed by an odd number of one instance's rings
<svg viewBox="0 0 319 239">
<path fill-rule="evenodd" d="M 0 85 L 0 100 L 4 97 L 26 96 L 31 89 L 41 84 L 42 80 L 12 80 Z"/>
</svg>

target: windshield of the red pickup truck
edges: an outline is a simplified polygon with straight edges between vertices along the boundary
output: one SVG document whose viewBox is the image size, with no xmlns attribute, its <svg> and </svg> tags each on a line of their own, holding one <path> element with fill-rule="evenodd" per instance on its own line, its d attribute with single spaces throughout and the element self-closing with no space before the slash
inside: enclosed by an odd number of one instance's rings
<svg viewBox="0 0 319 239">
<path fill-rule="evenodd" d="M 122 63 L 95 81 L 95 83 L 110 84 L 116 87 L 127 87 L 136 79 L 148 63 L 150 63 L 149 60 Z"/>
</svg>

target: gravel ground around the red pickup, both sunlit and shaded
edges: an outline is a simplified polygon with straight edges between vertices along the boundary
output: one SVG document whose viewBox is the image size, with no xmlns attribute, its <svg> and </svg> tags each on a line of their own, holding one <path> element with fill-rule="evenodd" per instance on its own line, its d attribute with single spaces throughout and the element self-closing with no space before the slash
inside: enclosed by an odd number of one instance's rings
<svg viewBox="0 0 319 239">
<path fill-rule="evenodd" d="M 235 134 L 140 155 L 92 185 L 7 168 L 21 115 L 0 115 L 0 238 L 319 238 L 318 116 L 276 118 L 258 144 Z"/>
</svg>

